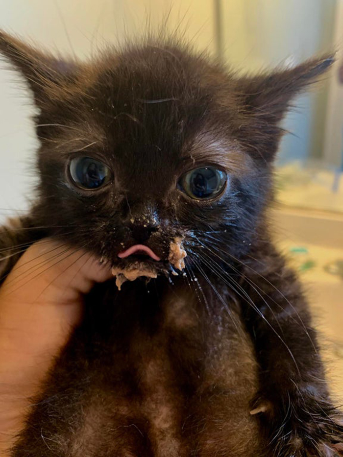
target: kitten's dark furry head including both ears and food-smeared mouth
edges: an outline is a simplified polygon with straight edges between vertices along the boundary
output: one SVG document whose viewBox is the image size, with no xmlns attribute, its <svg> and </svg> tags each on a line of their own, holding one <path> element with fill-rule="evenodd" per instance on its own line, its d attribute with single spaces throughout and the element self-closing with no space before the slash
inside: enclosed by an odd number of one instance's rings
<svg viewBox="0 0 343 457">
<path fill-rule="evenodd" d="M 181 268 L 183 248 L 189 266 L 246 251 L 270 199 L 279 123 L 333 61 L 239 78 L 172 43 L 80 63 L 1 32 L 0 50 L 40 110 L 37 224 L 150 271 Z"/>
</svg>

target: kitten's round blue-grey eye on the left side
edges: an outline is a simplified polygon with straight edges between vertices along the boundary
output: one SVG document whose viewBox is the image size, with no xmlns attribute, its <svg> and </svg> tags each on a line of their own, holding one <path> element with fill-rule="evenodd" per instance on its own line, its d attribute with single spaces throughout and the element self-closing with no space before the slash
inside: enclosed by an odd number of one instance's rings
<svg viewBox="0 0 343 457">
<path fill-rule="evenodd" d="M 111 170 L 92 157 L 75 157 L 69 164 L 74 184 L 81 189 L 98 189 L 111 179 Z"/>
</svg>

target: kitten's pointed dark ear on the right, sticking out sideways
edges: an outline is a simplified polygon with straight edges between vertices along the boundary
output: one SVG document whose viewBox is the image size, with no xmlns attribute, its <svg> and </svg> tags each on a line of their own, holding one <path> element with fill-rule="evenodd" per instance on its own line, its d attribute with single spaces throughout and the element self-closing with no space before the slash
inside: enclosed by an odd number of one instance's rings
<svg viewBox="0 0 343 457">
<path fill-rule="evenodd" d="M 247 115 L 241 131 L 246 144 L 265 160 L 272 160 L 283 133 L 280 121 L 292 106 L 293 98 L 317 82 L 334 61 L 334 54 L 330 54 L 287 70 L 238 79 L 236 91 Z"/>
</svg>

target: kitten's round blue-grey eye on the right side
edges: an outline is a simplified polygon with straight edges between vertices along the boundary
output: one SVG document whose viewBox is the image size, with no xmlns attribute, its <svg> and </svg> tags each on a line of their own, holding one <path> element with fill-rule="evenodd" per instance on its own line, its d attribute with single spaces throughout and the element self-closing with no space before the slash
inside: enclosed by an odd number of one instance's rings
<svg viewBox="0 0 343 457">
<path fill-rule="evenodd" d="M 183 192 L 196 200 L 211 200 L 225 188 L 227 175 L 215 167 L 196 168 L 181 176 L 179 181 Z"/>
</svg>

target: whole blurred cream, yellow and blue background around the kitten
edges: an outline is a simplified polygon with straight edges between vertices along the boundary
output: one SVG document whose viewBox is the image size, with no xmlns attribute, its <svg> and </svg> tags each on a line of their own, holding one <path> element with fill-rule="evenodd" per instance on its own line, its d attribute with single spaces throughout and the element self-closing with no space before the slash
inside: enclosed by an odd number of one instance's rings
<svg viewBox="0 0 343 457">
<path fill-rule="evenodd" d="M 162 24 L 243 73 L 337 50 L 334 68 L 284 121 L 272 215 L 277 242 L 308 290 L 343 400 L 343 0 L 0 0 L 1 28 L 80 58 Z M 25 211 L 32 195 L 33 113 L 24 81 L 2 62 L 2 220 Z"/>
</svg>

